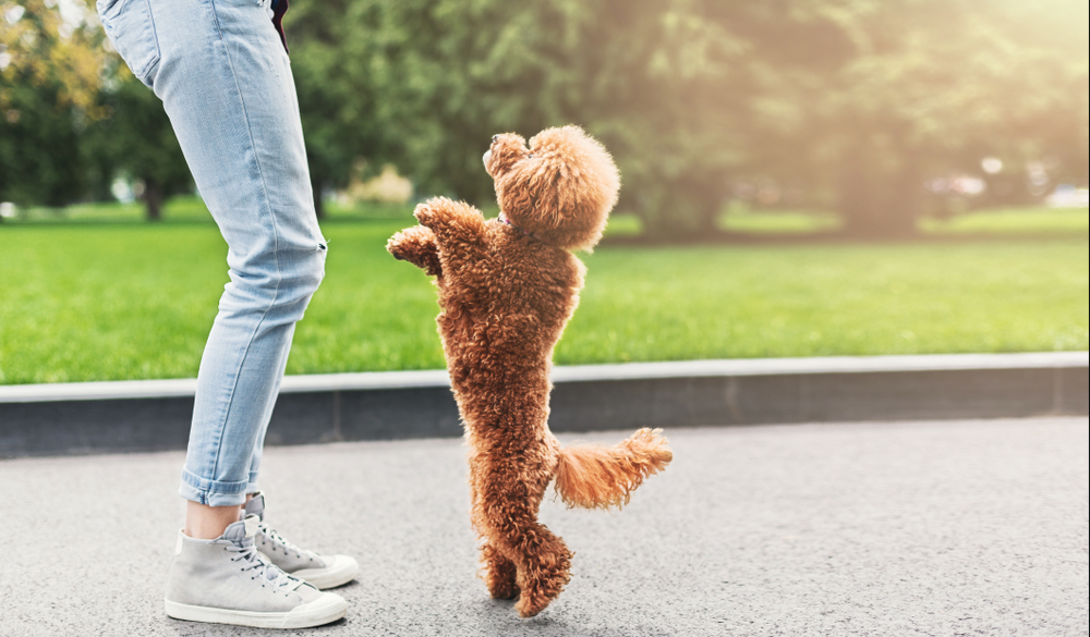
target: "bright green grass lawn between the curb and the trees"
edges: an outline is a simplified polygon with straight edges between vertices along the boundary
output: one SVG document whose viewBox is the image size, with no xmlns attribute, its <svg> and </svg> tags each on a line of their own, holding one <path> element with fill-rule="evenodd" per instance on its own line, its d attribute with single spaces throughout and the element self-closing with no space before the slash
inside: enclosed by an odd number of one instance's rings
<svg viewBox="0 0 1090 637">
<path fill-rule="evenodd" d="M 326 223 L 289 373 L 444 365 L 428 279 Z M 1087 350 L 1088 241 L 604 247 L 558 364 Z M 184 378 L 227 282 L 210 223 L 0 225 L 0 383 Z"/>
</svg>

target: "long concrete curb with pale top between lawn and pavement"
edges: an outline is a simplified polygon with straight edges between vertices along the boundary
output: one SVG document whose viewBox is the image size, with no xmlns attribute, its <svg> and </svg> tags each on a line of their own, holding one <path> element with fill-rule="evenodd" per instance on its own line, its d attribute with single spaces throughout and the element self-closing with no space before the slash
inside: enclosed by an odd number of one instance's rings
<svg viewBox="0 0 1090 637">
<path fill-rule="evenodd" d="M 1090 353 L 557 367 L 550 427 L 594 431 L 1086 415 Z M 184 449 L 194 379 L 0 387 L 0 457 Z M 286 377 L 266 443 L 461 436 L 444 370 Z"/>
</svg>

